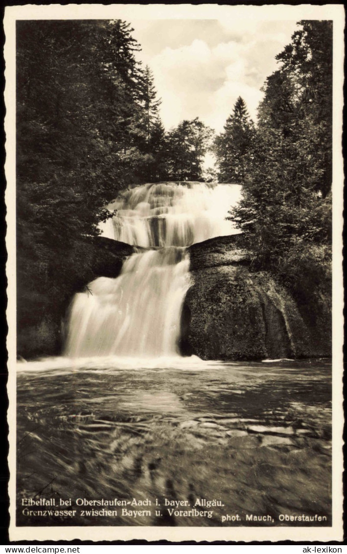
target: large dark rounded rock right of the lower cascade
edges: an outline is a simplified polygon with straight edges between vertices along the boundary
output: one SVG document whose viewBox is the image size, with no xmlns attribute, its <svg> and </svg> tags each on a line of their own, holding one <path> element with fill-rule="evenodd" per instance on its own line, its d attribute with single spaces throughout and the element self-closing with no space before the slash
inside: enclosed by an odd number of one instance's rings
<svg viewBox="0 0 347 554">
<path fill-rule="evenodd" d="M 270 274 L 251 271 L 242 235 L 188 250 L 193 284 L 183 305 L 183 353 L 204 360 L 331 355 L 329 301 L 310 319 Z"/>
</svg>

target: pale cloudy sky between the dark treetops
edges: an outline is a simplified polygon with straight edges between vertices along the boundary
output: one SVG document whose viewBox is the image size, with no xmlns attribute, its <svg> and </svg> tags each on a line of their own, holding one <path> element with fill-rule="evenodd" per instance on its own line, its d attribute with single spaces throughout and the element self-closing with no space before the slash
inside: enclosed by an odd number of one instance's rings
<svg viewBox="0 0 347 554">
<path fill-rule="evenodd" d="M 217 132 L 238 96 L 256 118 L 261 87 L 295 20 L 131 20 L 139 57 L 154 73 L 166 129 L 198 116 Z"/>
</svg>

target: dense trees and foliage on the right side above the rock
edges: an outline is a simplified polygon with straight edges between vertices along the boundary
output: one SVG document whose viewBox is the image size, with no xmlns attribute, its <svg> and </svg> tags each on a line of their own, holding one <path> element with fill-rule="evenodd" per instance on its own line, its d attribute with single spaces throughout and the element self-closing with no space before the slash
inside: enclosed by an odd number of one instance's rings
<svg viewBox="0 0 347 554">
<path fill-rule="evenodd" d="M 220 180 L 243 184 L 229 213 L 254 267 L 303 305 L 316 285 L 328 297 L 331 288 L 332 40 L 331 22 L 300 22 L 263 87 L 256 128 L 238 99 L 215 141 Z"/>
</svg>

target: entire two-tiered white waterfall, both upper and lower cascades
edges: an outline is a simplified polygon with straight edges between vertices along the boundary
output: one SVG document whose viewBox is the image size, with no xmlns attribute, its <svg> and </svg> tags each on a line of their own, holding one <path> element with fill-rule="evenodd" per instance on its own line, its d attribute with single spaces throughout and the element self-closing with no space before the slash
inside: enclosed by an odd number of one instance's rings
<svg viewBox="0 0 347 554">
<path fill-rule="evenodd" d="M 89 356 L 177 356 L 183 300 L 190 286 L 187 246 L 237 233 L 225 219 L 238 185 L 145 184 L 109 204 L 105 237 L 147 252 L 132 254 L 116 279 L 100 277 L 75 295 L 65 353 Z"/>
</svg>

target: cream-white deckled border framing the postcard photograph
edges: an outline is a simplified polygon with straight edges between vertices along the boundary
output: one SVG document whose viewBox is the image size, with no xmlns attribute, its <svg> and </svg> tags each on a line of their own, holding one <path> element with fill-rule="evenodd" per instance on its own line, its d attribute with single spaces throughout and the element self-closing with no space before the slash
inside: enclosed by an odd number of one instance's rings
<svg viewBox="0 0 347 554">
<path fill-rule="evenodd" d="M 88 540 L 112 541 L 145 539 L 148 541 L 331 541 L 343 540 L 343 4 L 314 6 L 220 6 L 218 4 L 50 4 L 7 7 L 4 16 L 6 43 L 6 207 L 8 252 L 8 424 L 9 424 L 9 496 L 11 541 Z M 333 525 L 332 527 L 17 527 L 16 526 L 16 20 L 22 19 L 263 19 L 333 20 Z"/>
</svg>

